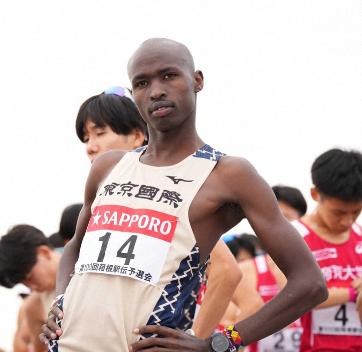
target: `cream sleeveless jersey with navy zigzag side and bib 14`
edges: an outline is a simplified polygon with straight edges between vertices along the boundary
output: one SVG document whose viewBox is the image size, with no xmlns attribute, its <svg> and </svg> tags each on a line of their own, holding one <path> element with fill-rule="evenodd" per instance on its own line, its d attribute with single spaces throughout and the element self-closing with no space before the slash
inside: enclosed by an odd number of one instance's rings
<svg viewBox="0 0 362 352">
<path fill-rule="evenodd" d="M 59 351 L 119 351 L 145 324 L 176 327 L 205 265 L 189 208 L 223 155 L 208 145 L 163 167 L 126 153 L 100 187 L 64 297 Z"/>
</svg>

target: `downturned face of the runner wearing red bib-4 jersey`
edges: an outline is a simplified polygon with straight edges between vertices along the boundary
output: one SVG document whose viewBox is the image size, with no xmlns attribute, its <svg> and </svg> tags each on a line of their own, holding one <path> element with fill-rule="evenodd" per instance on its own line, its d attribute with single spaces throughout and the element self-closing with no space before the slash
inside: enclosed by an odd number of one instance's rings
<svg viewBox="0 0 362 352">
<path fill-rule="evenodd" d="M 361 213 L 362 200 L 344 202 L 337 198 L 321 197 L 319 193 L 318 197 L 316 214 L 331 232 L 338 234 L 348 231 Z"/>
</svg>

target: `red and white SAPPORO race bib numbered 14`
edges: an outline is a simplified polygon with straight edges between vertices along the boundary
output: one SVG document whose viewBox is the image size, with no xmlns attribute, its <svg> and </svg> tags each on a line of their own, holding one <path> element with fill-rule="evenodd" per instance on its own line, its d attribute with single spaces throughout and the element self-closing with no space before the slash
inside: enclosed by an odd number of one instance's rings
<svg viewBox="0 0 362 352">
<path fill-rule="evenodd" d="M 95 207 L 75 273 L 127 276 L 156 286 L 177 220 L 149 209 Z"/>
</svg>

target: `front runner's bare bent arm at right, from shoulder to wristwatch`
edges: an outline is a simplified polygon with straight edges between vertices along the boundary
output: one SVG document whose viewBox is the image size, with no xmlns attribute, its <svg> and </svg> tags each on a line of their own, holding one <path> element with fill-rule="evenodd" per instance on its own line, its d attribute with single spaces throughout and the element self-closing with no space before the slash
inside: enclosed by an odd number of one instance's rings
<svg viewBox="0 0 362 352">
<path fill-rule="evenodd" d="M 296 229 L 281 214 L 275 195 L 245 159 L 228 157 L 219 169 L 227 201 L 239 204 L 262 245 L 288 282 L 256 313 L 236 324 L 250 344 L 289 325 L 327 298 L 323 274 Z M 268 322 L 268 323 L 266 323 Z"/>
</svg>

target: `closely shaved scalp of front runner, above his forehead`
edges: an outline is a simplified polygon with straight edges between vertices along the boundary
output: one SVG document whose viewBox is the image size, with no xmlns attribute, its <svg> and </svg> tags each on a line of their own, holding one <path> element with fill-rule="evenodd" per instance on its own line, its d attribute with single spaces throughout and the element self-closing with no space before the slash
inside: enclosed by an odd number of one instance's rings
<svg viewBox="0 0 362 352">
<path fill-rule="evenodd" d="M 143 51 L 154 51 L 157 48 L 163 49 L 166 51 L 172 51 L 177 52 L 180 58 L 183 59 L 186 66 L 189 68 L 191 73 L 194 73 L 195 71 L 195 64 L 194 64 L 194 58 L 190 53 L 190 50 L 188 47 L 184 44 L 178 43 L 171 39 L 166 38 L 151 38 L 144 41 L 138 49 L 134 52 L 134 54 L 131 56 L 131 58 L 128 61 L 127 65 L 127 71 L 128 75 L 130 74 L 130 71 L 132 70 L 132 65 L 137 61 L 137 57 L 139 52 Z"/>
</svg>

